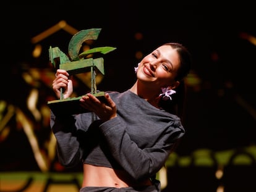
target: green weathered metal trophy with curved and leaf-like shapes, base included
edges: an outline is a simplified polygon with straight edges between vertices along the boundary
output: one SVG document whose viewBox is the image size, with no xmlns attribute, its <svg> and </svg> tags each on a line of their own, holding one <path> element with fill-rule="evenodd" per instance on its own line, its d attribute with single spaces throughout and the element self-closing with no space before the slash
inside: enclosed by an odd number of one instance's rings
<svg viewBox="0 0 256 192">
<path fill-rule="evenodd" d="M 104 101 L 104 92 L 96 90 L 96 72 L 95 69 L 105 75 L 104 72 L 104 60 L 103 54 L 114 51 L 113 47 L 99 47 L 88 49 L 79 54 L 80 48 L 83 42 L 87 40 L 97 40 L 101 28 L 92 28 L 88 30 L 82 30 L 72 36 L 69 42 L 69 57 L 64 54 L 58 47 L 49 48 L 49 59 L 55 69 L 64 69 L 69 75 L 77 73 L 91 72 L 91 92 L 98 99 Z M 92 57 L 87 58 L 88 55 Z M 98 56 L 98 57 L 95 57 Z M 79 100 L 82 96 L 75 98 L 64 99 L 63 89 L 61 88 L 61 97 L 58 100 L 48 101 L 49 108 L 54 114 L 79 114 L 88 112 L 86 109 L 80 106 Z"/>
</svg>

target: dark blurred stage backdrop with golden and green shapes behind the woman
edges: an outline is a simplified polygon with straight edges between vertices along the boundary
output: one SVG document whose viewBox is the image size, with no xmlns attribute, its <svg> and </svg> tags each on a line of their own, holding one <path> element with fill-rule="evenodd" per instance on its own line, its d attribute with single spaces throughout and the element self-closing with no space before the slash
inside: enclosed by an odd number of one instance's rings
<svg viewBox="0 0 256 192">
<path fill-rule="evenodd" d="M 158 173 L 163 191 L 255 191 L 255 11 L 249 2 L 103 1 L 9 4 L 1 12 L 0 191 L 79 191 L 82 167 L 62 167 L 49 127 L 54 68 L 49 46 L 67 53 L 77 31 L 102 28 L 83 48 L 113 46 L 101 91 L 124 91 L 134 67 L 168 41 L 194 57 L 187 133 Z M 75 3 L 75 2 L 74 2 Z M 90 90 L 75 75 L 74 96 Z"/>
</svg>

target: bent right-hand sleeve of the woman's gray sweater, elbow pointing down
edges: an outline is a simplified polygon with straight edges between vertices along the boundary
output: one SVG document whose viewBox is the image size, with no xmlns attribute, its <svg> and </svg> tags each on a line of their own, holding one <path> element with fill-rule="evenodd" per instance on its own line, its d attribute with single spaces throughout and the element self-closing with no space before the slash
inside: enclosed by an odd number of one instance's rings
<svg viewBox="0 0 256 192">
<path fill-rule="evenodd" d="M 147 127 L 147 123 L 145 126 Z M 151 177 L 158 172 L 168 158 L 173 144 L 184 134 L 179 120 L 170 122 L 163 127 L 164 131 L 160 135 L 156 131 L 156 135 L 153 137 L 139 137 L 139 143 L 148 143 L 147 147 L 143 148 L 131 140 L 126 131 L 129 130 L 127 127 L 126 123 L 118 118 L 109 120 L 100 126 L 114 159 L 135 180 Z M 141 130 L 138 130 L 137 134 L 147 135 Z M 152 132 L 152 134 L 154 133 Z M 156 140 L 150 139 L 156 136 L 158 136 Z"/>
</svg>

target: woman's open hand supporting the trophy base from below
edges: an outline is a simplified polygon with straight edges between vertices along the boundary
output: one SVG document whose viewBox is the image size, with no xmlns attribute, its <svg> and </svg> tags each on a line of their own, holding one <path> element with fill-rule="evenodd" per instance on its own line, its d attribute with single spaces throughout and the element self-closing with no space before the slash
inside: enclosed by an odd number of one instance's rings
<svg viewBox="0 0 256 192">
<path fill-rule="evenodd" d="M 116 117 L 116 103 L 105 93 L 106 102 L 101 102 L 93 94 L 87 93 L 80 99 L 81 106 L 88 111 L 95 112 L 103 122 Z"/>
</svg>

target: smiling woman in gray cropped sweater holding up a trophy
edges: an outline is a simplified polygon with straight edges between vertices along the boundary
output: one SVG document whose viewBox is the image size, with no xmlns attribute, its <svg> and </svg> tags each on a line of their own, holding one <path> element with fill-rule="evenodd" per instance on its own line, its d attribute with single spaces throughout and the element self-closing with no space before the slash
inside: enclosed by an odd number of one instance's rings
<svg viewBox="0 0 256 192">
<path fill-rule="evenodd" d="M 83 162 L 83 191 L 161 191 L 156 173 L 184 135 L 177 89 L 189 73 L 190 54 L 179 43 L 159 46 L 135 67 L 137 80 L 123 93 L 105 92 L 105 102 L 88 93 L 80 99 L 87 113 L 54 115 L 51 128 L 59 161 Z M 57 70 L 53 90 L 64 98 L 72 80 Z M 181 94 L 181 96 L 179 95 Z"/>
</svg>

